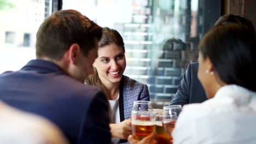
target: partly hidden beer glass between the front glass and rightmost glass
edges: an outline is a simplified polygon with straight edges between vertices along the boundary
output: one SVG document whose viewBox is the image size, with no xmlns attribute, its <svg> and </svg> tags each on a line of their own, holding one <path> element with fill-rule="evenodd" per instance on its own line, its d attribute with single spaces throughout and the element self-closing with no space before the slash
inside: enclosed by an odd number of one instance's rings
<svg viewBox="0 0 256 144">
<path fill-rule="evenodd" d="M 156 135 L 156 141 L 162 144 L 171 144 L 171 136 L 168 135 L 162 126 L 162 121 L 166 119 L 163 111 L 155 112 L 155 131 L 158 133 Z"/>
</svg>

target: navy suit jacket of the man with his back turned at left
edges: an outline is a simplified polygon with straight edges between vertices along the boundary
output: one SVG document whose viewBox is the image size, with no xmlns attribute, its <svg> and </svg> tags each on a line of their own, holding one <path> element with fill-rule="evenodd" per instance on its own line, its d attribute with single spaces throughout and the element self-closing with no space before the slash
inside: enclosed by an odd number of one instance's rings
<svg viewBox="0 0 256 144">
<path fill-rule="evenodd" d="M 70 143 L 110 143 L 105 95 L 40 59 L 0 75 L 0 99 L 54 122 Z"/>
</svg>

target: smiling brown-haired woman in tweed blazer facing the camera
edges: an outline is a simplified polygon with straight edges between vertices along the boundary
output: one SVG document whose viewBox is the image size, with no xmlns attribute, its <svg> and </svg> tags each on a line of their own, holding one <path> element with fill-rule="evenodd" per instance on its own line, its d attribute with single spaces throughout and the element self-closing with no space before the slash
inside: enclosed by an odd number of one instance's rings
<svg viewBox="0 0 256 144">
<path fill-rule="evenodd" d="M 149 101 L 147 85 L 132 80 L 123 73 L 126 67 L 125 47 L 121 35 L 114 29 L 103 28 L 95 59 L 95 74 L 87 83 L 102 89 L 109 100 L 110 132 L 113 143 L 131 134 L 130 111 L 135 100 Z M 125 141 L 120 141 L 125 142 Z"/>
</svg>

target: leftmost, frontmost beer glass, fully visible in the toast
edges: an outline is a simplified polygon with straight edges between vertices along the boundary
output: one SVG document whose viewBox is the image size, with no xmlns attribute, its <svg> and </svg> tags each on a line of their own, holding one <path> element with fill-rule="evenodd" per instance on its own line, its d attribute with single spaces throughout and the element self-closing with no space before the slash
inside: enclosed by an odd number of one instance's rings
<svg viewBox="0 0 256 144">
<path fill-rule="evenodd" d="M 155 112 L 150 101 L 134 101 L 131 110 L 132 135 L 142 140 L 154 131 Z"/>
</svg>

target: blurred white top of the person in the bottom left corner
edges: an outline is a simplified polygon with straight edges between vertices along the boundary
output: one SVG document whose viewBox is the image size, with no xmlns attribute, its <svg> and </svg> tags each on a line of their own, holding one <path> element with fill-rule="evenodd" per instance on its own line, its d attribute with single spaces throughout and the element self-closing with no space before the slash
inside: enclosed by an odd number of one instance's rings
<svg viewBox="0 0 256 144">
<path fill-rule="evenodd" d="M 14 109 L 0 101 L 0 143 L 67 144 L 53 123 L 43 117 Z"/>
</svg>

